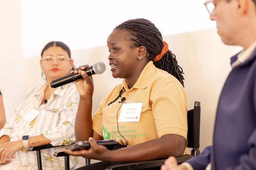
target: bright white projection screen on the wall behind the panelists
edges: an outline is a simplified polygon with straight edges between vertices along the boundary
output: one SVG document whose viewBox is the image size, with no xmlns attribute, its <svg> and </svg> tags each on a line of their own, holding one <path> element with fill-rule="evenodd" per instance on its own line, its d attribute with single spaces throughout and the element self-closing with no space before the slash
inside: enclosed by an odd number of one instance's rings
<svg viewBox="0 0 256 170">
<path fill-rule="evenodd" d="M 214 28 L 204 1 L 21 0 L 22 55 L 37 56 L 49 40 L 73 50 L 103 46 L 115 26 L 132 18 L 149 19 L 162 35 Z"/>
</svg>

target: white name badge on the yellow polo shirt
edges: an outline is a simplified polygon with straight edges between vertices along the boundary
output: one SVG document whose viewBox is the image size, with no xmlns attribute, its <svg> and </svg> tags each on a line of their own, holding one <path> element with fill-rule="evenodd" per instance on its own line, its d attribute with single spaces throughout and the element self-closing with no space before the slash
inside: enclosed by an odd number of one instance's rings
<svg viewBox="0 0 256 170">
<path fill-rule="evenodd" d="M 143 103 L 123 103 L 118 122 L 139 122 Z"/>
</svg>

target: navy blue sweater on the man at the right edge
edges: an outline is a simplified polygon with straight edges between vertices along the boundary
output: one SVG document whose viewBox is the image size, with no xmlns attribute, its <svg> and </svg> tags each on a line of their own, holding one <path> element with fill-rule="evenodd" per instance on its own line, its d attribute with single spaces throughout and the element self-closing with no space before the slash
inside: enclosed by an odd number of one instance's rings
<svg viewBox="0 0 256 170">
<path fill-rule="evenodd" d="M 236 61 L 237 55 L 231 58 Z M 256 170 L 256 50 L 229 74 L 216 113 L 213 146 L 188 160 L 195 170 Z"/>
</svg>

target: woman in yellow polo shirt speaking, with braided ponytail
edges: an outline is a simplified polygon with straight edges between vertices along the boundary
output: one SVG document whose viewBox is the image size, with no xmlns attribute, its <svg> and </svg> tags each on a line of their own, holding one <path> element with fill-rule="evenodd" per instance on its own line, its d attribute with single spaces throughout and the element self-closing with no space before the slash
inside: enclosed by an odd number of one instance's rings
<svg viewBox="0 0 256 170">
<path fill-rule="evenodd" d="M 62 150 L 102 160 L 81 169 L 187 154 L 188 96 L 183 71 L 160 31 L 147 19 L 132 19 L 117 26 L 107 44 L 109 69 L 113 78 L 123 82 L 101 100 L 92 117 L 93 81 L 84 71 L 88 65 L 74 70 L 83 76 L 76 81 L 80 95 L 76 141 L 89 140 L 91 148 Z M 102 139 L 115 139 L 120 145 L 108 150 L 95 141 Z"/>
</svg>

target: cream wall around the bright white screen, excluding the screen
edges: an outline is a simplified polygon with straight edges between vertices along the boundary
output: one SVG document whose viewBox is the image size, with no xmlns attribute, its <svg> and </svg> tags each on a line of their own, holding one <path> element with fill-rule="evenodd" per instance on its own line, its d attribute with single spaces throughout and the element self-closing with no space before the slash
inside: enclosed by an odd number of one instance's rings
<svg viewBox="0 0 256 170">
<path fill-rule="evenodd" d="M 0 90 L 3 93 L 7 120 L 13 116 L 25 92 L 38 84 L 41 75 L 41 51 L 38 51 L 37 57 L 22 58 L 20 13 L 20 0 L 0 0 Z M 168 42 L 169 49 L 177 56 L 178 63 L 185 72 L 189 109 L 193 108 L 194 101 L 201 102 L 200 144 L 203 150 L 205 146 L 212 144 L 217 101 L 231 70 L 229 58 L 241 48 L 224 45 L 216 29 L 168 35 L 164 36 L 164 40 Z M 98 107 L 99 101 L 122 81 L 111 76 L 107 50 L 107 46 L 72 50 L 76 66 L 86 63 L 92 65 L 97 61 L 102 61 L 107 66 L 105 73 L 93 76 L 93 111 Z"/>
</svg>

